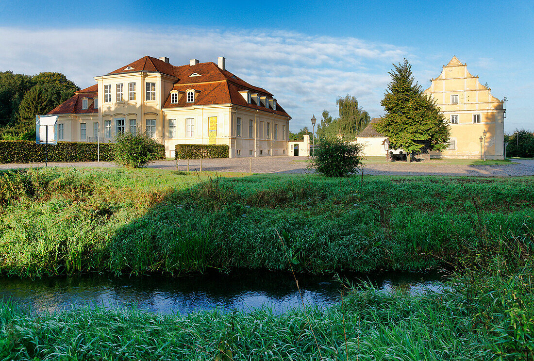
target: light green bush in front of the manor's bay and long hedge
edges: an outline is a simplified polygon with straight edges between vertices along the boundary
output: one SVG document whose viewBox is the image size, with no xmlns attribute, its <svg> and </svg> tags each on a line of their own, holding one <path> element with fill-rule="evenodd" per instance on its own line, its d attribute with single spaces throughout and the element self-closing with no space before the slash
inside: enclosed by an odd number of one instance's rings
<svg viewBox="0 0 534 361">
<path fill-rule="evenodd" d="M 162 145 L 143 133 L 124 132 L 115 136 L 115 163 L 124 167 L 142 168 L 155 159 L 165 158 Z"/>
</svg>

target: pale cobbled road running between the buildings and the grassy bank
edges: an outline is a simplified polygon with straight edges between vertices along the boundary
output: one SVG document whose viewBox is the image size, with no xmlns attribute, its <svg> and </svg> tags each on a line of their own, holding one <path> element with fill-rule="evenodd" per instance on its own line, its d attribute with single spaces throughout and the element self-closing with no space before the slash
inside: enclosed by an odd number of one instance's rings
<svg viewBox="0 0 534 361">
<path fill-rule="evenodd" d="M 306 169 L 304 157 L 272 156 L 252 159 L 254 173 L 311 173 Z M 248 172 L 250 158 L 237 159 L 205 159 L 202 161 L 202 170 L 218 172 Z M 364 174 L 368 175 L 446 175 L 446 176 L 482 176 L 482 177 L 517 177 L 534 175 L 534 160 L 514 160 L 519 164 L 506 164 L 502 166 L 465 166 L 456 164 L 436 163 L 370 163 L 367 164 Z M 50 162 L 49 167 L 115 167 L 110 162 L 80 162 L 60 163 Z M 29 167 L 43 167 L 44 163 L 33 164 L 0 164 L 0 169 L 17 169 Z M 174 160 L 160 160 L 150 164 L 149 168 L 176 170 Z M 190 160 L 190 170 L 200 170 L 200 160 Z M 179 170 L 187 170 L 187 161 L 180 160 Z"/>
</svg>

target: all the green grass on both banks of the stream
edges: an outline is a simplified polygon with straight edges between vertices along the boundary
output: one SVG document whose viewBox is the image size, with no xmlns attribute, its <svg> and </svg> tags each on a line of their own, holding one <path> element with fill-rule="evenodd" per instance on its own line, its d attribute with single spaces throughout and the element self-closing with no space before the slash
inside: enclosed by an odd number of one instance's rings
<svg viewBox="0 0 534 361">
<path fill-rule="evenodd" d="M 163 316 L 89 308 L 34 315 L 2 301 L 0 358 L 534 360 L 533 183 L 151 169 L 4 172 L 3 274 L 290 266 L 316 272 L 445 266 L 453 274 L 445 294 L 347 287 L 336 307 L 278 316 L 268 309 Z"/>
</svg>

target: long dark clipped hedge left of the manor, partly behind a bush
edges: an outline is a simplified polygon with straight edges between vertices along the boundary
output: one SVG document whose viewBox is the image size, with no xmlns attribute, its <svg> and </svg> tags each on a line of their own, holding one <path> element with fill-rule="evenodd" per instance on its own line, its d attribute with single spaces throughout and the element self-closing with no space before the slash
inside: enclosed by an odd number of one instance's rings
<svg viewBox="0 0 534 361">
<path fill-rule="evenodd" d="M 165 159 L 165 147 L 160 145 L 159 159 Z M 29 140 L 0 140 L 0 163 L 44 162 L 44 145 Z M 112 143 L 100 143 L 100 161 L 113 161 Z M 49 162 L 96 162 L 97 144 L 87 142 L 58 142 L 48 146 Z"/>
</svg>

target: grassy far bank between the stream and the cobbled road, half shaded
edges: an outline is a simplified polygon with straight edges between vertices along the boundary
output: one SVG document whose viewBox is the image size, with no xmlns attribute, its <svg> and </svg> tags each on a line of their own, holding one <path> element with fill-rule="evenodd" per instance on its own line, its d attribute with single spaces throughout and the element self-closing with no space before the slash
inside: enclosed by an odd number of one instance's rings
<svg viewBox="0 0 534 361">
<path fill-rule="evenodd" d="M 0 175 L 0 272 L 370 271 L 457 264 L 534 225 L 534 178 Z M 285 245 L 276 230 L 287 233 Z M 287 254 L 284 250 L 287 247 Z"/>
</svg>

